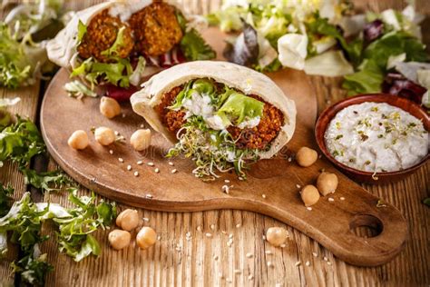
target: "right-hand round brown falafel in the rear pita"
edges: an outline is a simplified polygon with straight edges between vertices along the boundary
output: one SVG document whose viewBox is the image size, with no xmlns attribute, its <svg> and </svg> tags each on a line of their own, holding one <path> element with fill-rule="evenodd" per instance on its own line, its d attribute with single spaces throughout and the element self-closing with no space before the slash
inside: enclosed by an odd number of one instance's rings
<svg viewBox="0 0 430 287">
<path fill-rule="evenodd" d="M 175 12 L 174 6 L 155 2 L 130 17 L 139 53 L 158 56 L 181 41 L 181 25 Z"/>
</svg>

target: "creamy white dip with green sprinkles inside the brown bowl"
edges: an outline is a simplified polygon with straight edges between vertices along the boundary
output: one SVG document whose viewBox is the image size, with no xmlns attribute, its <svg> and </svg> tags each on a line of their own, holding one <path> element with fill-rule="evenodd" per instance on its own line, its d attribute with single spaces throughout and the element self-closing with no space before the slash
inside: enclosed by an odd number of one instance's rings
<svg viewBox="0 0 430 287">
<path fill-rule="evenodd" d="M 385 103 L 354 104 L 336 114 L 324 135 L 340 163 L 373 173 L 404 170 L 428 153 L 429 134 L 412 114 Z"/>
</svg>

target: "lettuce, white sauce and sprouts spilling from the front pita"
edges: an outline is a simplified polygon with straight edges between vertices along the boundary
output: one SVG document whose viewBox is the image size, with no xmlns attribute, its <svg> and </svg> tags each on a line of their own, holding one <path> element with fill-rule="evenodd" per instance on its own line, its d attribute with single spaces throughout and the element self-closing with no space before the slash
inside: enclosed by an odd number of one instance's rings
<svg viewBox="0 0 430 287">
<path fill-rule="evenodd" d="M 197 165 L 193 173 L 204 180 L 214 180 L 219 177 L 217 171 L 225 173 L 232 169 L 245 178 L 247 163 L 258 159 L 258 150 L 239 148 L 227 127 L 256 119 L 258 124 L 263 107 L 259 100 L 225 84 L 217 88 L 210 79 L 190 81 L 169 107 L 187 114 L 186 123 L 177 133 L 179 142 L 167 157 L 179 154 L 190 157 Z"/>
</svg>

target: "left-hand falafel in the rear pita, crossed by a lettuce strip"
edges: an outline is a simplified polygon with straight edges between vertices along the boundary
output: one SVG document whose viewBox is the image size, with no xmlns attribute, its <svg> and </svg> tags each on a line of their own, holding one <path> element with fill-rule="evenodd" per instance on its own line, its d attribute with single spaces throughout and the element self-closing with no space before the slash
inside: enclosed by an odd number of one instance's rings
<svg viewBox="0 0 430 287">
<path fill-rule="evenodd" d="M 117 17 L 109 15 L 108 10 L 103 10 L 91 19 L 87 26 L 83 40 L 78 46 L 78 53 L 83 59 L 94 57 L 99 62 L 109 62 L 109 55 L 102 54 L 109 49 L 118 36 L 118 32 L 125 27 L 122 34 L 123 45 L 117 48 L 116 56 L 126 58 L 132 52 L 134 41 L 132 39 L 132 29 L 121 22 Z"/>
</svg>

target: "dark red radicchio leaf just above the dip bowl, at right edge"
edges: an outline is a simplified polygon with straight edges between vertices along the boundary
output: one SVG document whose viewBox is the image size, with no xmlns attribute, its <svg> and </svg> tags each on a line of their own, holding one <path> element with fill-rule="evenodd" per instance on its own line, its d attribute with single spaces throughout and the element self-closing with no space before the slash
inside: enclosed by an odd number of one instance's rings
<svg viewBox="0 0 430 287">
<path fill-rule="evenodd" d="M 407 80 L 402 74 L 389 73 L 382 84 L 382 91 L 386 94 L 395 94 L 404 97 L 416 104 L 422 104 L 423 95 L 427 92 L 427 89 Z"/>
</svg>

